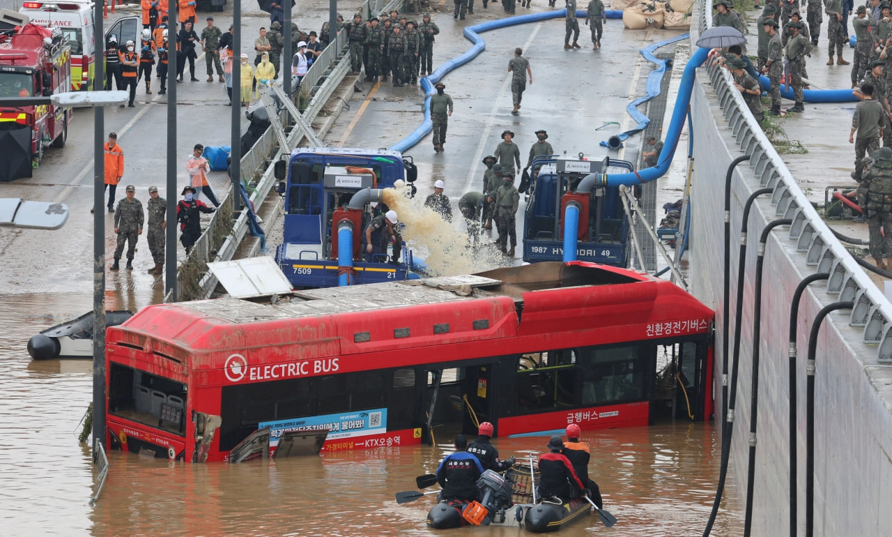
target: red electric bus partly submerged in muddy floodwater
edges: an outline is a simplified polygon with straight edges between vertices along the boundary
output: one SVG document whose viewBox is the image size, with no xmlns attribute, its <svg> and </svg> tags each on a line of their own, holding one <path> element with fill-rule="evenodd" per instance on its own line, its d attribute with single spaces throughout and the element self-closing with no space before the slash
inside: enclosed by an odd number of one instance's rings
<svg viewBox="0 0 892 537">
<path fill-rule="evenodd" d="M 508 436 L 713 412 L 713 311 L 625 269 L 542 262 L 265 302 L 158 304 L 109 327 L 109 445 L 203 462 L 267 429 L 270 453 L 323 429 L 325 450 L 351 450 L 442 424 Z"/>
</svg>

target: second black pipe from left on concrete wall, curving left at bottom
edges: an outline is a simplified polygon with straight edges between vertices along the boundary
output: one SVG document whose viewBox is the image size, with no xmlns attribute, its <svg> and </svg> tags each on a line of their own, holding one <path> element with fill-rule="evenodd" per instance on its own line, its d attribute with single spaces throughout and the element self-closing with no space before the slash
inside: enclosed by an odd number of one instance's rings
<svg viewBox="0 0 892 537">
<path fill-rule="evenodd" d="M 728 475 L 728 459 L 731 456 L 731 433 L 734 431 L 734 400 L 737 397 L 737 370 L 739 365 L 740 353 L 740 322 L 743 317 L 743 277 L 747 269 L 747 224 L 749 223 L 749 210 L 756 201 L 756 197 L 762 194 L 769 194 L 772 188 L 760 188 L 747 198 L 747 202 L 743 204 L 743 219 L 740 221 L 740 252 L 738 259 L 737 272 L 737 303 L 735 304 L 735 322 L 734 322 L 734 350 L 733 361 L 731 362 L 731 390 L 728 395 L 728 411 L 725 416 L 725 422 L 722 428 L 722 461 L 719 469 L 719 483 L 715 487 L 715 500 L 713 501 L 713 510 L 709 514 L 709 522 L 706 523 L 706 529 L 703 531 L 703 537 L 707 537 L 713 529 L 715 516 L 719 513 L 719 504 L 722 503 L 722 492 L 724 491 L 725 477 Z M 730 238 L 728 239 L 731 240 Z M 726 259 L 728 256 L 725 256 Z M 726 300 L 725 303 L 728 301 Z M 727 316 L 726 316 L 727 318 Z M 724 335 L 727 339 L 728 335 Z M 723 371 L 724 374 L 724 371 Z"/>
</svg>

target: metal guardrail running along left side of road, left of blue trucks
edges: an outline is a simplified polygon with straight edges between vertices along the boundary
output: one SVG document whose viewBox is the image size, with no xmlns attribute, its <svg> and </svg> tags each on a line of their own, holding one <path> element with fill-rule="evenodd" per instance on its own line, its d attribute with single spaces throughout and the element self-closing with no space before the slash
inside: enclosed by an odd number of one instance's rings
<svg viewBox="0 0 892 537">
<path fill-rule="evenodd" d="M 367 15 L 379 11 L 399 10 L 403 1 L 392 0 L 380 8 L 376 4 L 378 4 L 376 0 L 367 0 L 362 5 L 361 10 L 367 13 Z M 303 122 L 306 125 L 312 125 L 319 112 L 322 112 L 322 108 L 350 70 L 350 57 L 348 54 L 344 54 L 346 48 L 347 32 L 338 32 L 335 41 L 326 46 L 326 49 L 319 55 L 317 61 L 313 62 L 301 81 L 301 87 L 294 92 L 293 98 L 299 110 L 301 95 L 310 96 L 310 103 L 307 103 L 307 107 L 301 112 Z M 290 61 L 283 62 L 283 64 L 290 65 Z M 297 87 L 297 85 L 294 84 L 293 87 Z M 288 147 L 279 147 L 273 128 L 268 128 L 252 148 L 244 154 L 240 162 L 243 182 L 245 182 L 244 178 L 249 178 L 246 184 L 252 185 L 254 179 L 257 179 L 256 184 L 253 186 L 254 192 L 250 196 L 254 207 L 260 207 L 269 191 L 276 184 L 276 179 L 273 176 L 273 163 L 278 161 L 284 154 L 291 153 L 291 149 L 300 144 L 301 139 L 306 136 L 301 123 L 292 125 L 291 118 L 285 111 L 280 112 L 279 123 L 285 126 L 285 128 L 292 128 L 287 138 Z M 260 177 L 258 177 L 258 174 L 260 174 Z M 178 269 L 177 280 L 178 287 L 181 290 L 181 284 L 187 281 L 194 281 L 194 272 L 196 270 L 202 273 L 202 277 L 198 282 L 199 289 L 195 293 L 186 293 L 185 297 L 184 293 L 178 293 L 179 300 L 209 298 L 217 286 L 217 278 L 207 270 L 207 263 L 213 260 L 231 260 L 238 245 L 244 239 L 244 235 L 247 234 L 248 217 L 244 211 L 235 219 L 231 227 L 228 224 L 232 218 L 232 193 L 232 186 L 229 186 L 220 202 L 221 209 L 212 215 L 208 227 L 205 228 L 202 235 L 195 242 L 186 262 Z M 165 302 L 170 300 L 171 296 L 168 294 L 165 297 Z"/>
</svg>

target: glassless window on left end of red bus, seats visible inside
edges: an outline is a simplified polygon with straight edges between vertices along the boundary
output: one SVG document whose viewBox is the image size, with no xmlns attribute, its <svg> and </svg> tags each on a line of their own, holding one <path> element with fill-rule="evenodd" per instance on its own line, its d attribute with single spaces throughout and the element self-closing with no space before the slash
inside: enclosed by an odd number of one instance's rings
<svg viewBox="0 0 892 537">
<path fill-rule="evenodd" d="M 186 385 L 112 363 L 109 413 L 182 436 Z"/>
</svg>

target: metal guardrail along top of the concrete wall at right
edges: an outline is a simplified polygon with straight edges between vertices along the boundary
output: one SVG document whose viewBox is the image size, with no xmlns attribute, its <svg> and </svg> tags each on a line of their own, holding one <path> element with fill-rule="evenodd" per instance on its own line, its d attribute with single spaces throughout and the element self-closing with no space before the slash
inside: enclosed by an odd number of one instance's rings
<svg viewBox="0 0 892 537">
<path fill-rule="evenodd" d="M 708 16 L 710 10 L 704 0 L 698 2 L 698 10 L 698 29 L 691 28 L 692 43 L 697 41 L 700 33 L 712 27 Z M 892 304 L 814 210 L 749 112 L 747 103 L 733 87 L 728 70 L 707 64 L 706 71 L 740 151 L 750 155 L 748 164 L 754 169 L 761 186 L 773 189 L 771 202 L 775 214 L 778 218 L 793 220 L 789 239 L 796 243 L 797 251 L 805 252 L 805 264 L 816 273 L 830 273 L 826 291 L 838 295 L 838 301 L 855 302 L 849 324 L 862 327 L 862 343 L 879 344 L 877 358 L 883 362 L 892 361 L 892 324 L 889 323 Z M 780 235 L 780 230 L 775 233 Z"/>
</svg>

